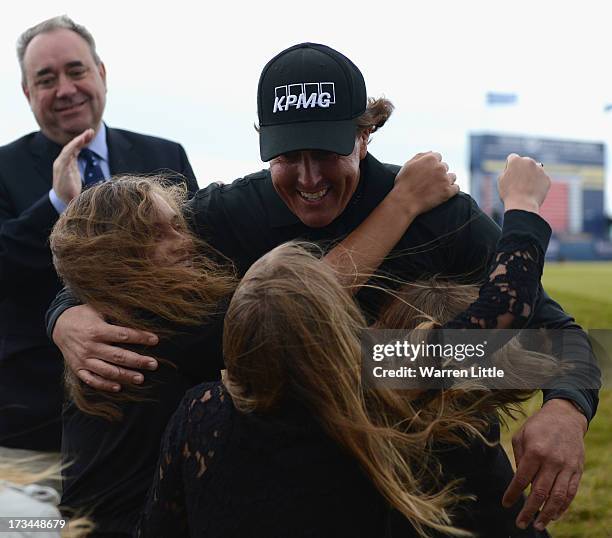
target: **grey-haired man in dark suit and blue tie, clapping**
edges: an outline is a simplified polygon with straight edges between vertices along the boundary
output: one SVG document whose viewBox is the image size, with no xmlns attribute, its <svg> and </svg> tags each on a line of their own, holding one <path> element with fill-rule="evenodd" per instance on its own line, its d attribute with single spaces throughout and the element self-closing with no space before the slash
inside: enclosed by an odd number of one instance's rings
<svg viewBox="0 0 612 538">
<path fill-rule="evenodd" d="M 173 171 L 197 190 L 179 144 L 102 122 L 106 69 L 83 26 L 44 21 L 22 34 L 17 53 L 40 131 L 0 147 L 0 455 L 9 457 L 60 449 L 62 361 L 44 326 L 60 289 L 48 246 L 59 213 L 111 174 Z M 79 155 L 78 187 L 53 173 L 68 144 Z"/>
</svg>

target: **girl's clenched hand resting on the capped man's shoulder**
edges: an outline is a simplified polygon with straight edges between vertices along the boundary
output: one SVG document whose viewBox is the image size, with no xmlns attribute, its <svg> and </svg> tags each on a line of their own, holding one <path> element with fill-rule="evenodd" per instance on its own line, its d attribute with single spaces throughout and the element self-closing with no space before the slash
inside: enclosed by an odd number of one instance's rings
<svg viewBox="0 0 612 538">
<path fill-rule="evenodd" d="M 459 192 L 457 176 L 449 173 L 442 155 L 429 151 L 417 153 L 402 166 L 390 195 L 412 215 L 420 215 L 446 202 Z"/>
</svg>

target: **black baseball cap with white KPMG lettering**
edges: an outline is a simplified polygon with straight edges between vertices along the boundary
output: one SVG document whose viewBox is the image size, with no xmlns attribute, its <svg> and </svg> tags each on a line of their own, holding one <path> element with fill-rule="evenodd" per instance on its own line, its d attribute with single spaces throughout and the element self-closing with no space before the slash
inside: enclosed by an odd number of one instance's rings
<svg viewBox="0 0 612 538">
<path fill-rule="evenodd" d="M 300 43 L 270 60 L 257 89 L 262 161 L 306 149 L 349 155 L 366 109 L 363 75 L 325 45 Z"/>
</svg>

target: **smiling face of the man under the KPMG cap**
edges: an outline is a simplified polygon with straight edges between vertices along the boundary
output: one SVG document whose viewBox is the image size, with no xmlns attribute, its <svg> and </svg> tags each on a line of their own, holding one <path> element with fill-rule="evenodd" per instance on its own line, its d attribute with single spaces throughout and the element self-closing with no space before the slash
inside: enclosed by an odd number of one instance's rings
<svg viewBox="0 0 612 538">
<path fill-rule="evenodd" d="M 270 161 L 276 192 L 306 226 L 321 228 L 346 208 L 359 183 L 359 163 L 367 154 L 367 134 L 358 135 L 350 155 L 292 151 Z"/>
</svg>

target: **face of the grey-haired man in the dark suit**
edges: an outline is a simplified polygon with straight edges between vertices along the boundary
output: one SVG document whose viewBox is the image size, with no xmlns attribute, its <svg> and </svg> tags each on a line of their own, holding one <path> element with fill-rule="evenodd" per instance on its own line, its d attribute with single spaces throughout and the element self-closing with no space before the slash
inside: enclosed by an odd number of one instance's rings
<svg viewBox="0 0 612 538">
<path fill-rule="evenodd" d="M 66 144 L 97 129 L 106 101 L 106 71 L 87 42 L 71 30 L 37 35 L 24 56 L 23 92 L 42 132 Z"/>
</svg>

